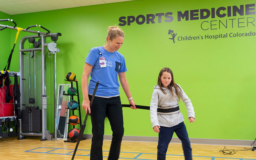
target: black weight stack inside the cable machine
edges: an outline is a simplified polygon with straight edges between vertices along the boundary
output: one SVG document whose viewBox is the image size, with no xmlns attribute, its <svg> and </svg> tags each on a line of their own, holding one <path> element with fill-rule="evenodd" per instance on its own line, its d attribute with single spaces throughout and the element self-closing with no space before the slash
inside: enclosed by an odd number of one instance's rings
<svg viewBox="0 0 256 160">
<path fill-rule="evenodd" d="M 38 106 L 27 106 L 21 111 L 22 132 L 42 132 L 42 110 Z"/>
</svg>

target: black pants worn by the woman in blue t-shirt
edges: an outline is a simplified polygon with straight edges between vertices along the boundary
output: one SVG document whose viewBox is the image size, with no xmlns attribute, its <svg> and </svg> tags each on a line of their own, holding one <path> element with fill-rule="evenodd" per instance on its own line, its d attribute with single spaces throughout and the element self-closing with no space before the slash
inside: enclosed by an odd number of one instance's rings
<svg viewBox="0 0 256 160">
<path fill-rule="evenodd" d="M 91 97 L 92 96 L 89 95 L 90 100 Z M 119 158 L 124 133 L 123 110 L 120 97 L 102 98 L 95 96 L 91 106 L 91 160 L 102 160 L 105 115 L 107 115 L 108 120 L 110 121 L 110 126 L 113 132 L 108 160 L 117 160 Z"/>
</svg>

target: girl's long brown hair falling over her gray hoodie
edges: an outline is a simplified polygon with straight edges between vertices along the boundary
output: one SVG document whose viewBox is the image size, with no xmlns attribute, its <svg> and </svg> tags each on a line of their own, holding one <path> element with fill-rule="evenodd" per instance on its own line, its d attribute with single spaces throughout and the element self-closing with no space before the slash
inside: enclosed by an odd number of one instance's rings
<svg viewBox="0 0 256 160">
<path fill-rule="evenodd" d="M 180 101 L 180 97 L 182 96 L 182 90 L 181 90 L 180 86 L 178 86 L 178 85 L 174 82 L 174 77 L 173 77 L 172 70 L 171 70 L 170 68 L 167 68 L 167 67 L 161 69 L 161 71 L 160 71 L 160 73 L 159 73 L 159 76 L 158 76 L 158 85 L 160 86 L 161 91 L 162 91 L 164 94 L 167 94 L 167 92 L 165 92 L 165 91 L 162 89 L 163 85 L 162 85 L 162 82 L 161 82 L 161 76 L 162 76 L 163 72 L 168 72 L 168 73 L 171 74 L 172 80 L 171 80 L 171 83 L 168 85 L 168 88 L 169 88 L 170 91 L 171 91 L 172 99 L 174 98 L 174 92 L 173 92 L 173 90 L 172 90 L 172 87 L 175 88 L 175 93 L 176 93 L 176 95 L 178 96 L 178 99 L 179 99 L 179 101 Z"/>
</svg>

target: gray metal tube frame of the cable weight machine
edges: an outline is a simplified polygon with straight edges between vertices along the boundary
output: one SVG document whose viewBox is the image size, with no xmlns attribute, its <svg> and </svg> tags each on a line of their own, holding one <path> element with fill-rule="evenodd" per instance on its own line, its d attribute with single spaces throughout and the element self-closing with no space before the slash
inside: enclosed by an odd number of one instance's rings
<svg viewBox="0 0 256 160">
<path fill-rule="evenodd" d="M 0 21 L 12 21 L 9 19 L 6 20 L 0 20 Z M 14 21 L 12 21 L 13 23 L 15 23 Z M 15 23 L 16 26 L 16 23 Z M 0 30 L 4 30 L 5 28 L 9 28 L 12 30 L 17 30 L 17 27 L 10 27 L 10 26 L 6 26 L 6 25 L 0 25 Z M 37 25 L 34 26 L 30 26 L 30 27 L 35 27 Z M 42 27 L 39 25 L 39 27 L 43 28 L 44 30 L 48 31 L 48 33 L 44 33 L 44 32 L 40 32 L 40 31 L 33 31 L 33 30 L 28 30 L 27 27 L 26 29 L 22 29 L 22 31 L 24 32 L 30 32 L 30 33 L 36 33 L 37 35 L 32 35 L 32 36 L 25 36 L 23 38 L 21 38 L 20 40 L 20 44 L 19 44 L 19 71 L 18 72 L 14 72 L 11 71 L 9 72 L 10 76 L 14 76 L 14 74 L 16 73 L 17 76 L 20 78 L 20 91 L 24 90 L 24 86 L 23 86 L 23 73 L 24 73 L 24 53 L 25 52 L 33 52 L 33 51 L 40 51 L 41 50 L 41 54 L 42 54 L 42 64 L 41 64 L 41 68 L 42 68 L 42 133 L 23 133 L 22 132 L 22 126 L 21 126 L 21 119 L 19 119 L 20 121 L 20 135 L 18 139 L 23 139 L 24 135 L 36 135 L 36 136 L 42 136 L 41 140 L 47 140 L 46 139 L 46 133 L 49 131 L 47 130 L 47 115 L 46 115 L 46 111 L 47 111 L 47 96 L 46 96 L 46 50 L 47 50 L 47 44 L 46 43 L 46 37 L 51 37 L 51 36 L 61 36 L 61 33 L 50 33 L 49 30 L 47 30 L 46 28 Z M 28 49 L 24 49 L 24 43 L 28 38 L 42 38 L 42 42 L 41 42 L 41 48 L 28 48 Z M 54 55 L 54 119 L 55 119 L 55 137 L 56 137 L 56 105 L 57 105 L 57 98 L 56 98 L 56 55 Z M 23 95 L 21 94 L 20 96 L 20 108 L 22 110 L 22 104 L 24 104 L 23 102 Z M 49 140 L 49 139 L 48 139 Z M 55 138 L 55 140 L 57 140 L 57 138 Z"/>
</svg>

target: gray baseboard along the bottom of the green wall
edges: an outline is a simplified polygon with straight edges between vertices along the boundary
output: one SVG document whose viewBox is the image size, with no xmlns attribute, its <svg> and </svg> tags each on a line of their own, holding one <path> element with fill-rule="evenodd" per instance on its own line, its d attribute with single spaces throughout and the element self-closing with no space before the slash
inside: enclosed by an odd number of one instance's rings
<svg viewBox="0 0 256 160">
<path fill-rule="evenodd" d="M 91 139 L 92 134 L 84 134 L 86 139 Z M 104 140 L 111 140 L 112 135 L 104 135 Z M 123 140 L 137 142 L 158 142 L 158 137 L 129 136 L 124 135 Z M 234 139 L 206 139 L 206 138 L 190 138 L 192 144 L 212 144 L 212 145 L 240 145 L 251 146 L 254 140 L 234 140 Z M 180 139 L 173 137 L 171 143 L 181 143 Z"/>
</svg>

